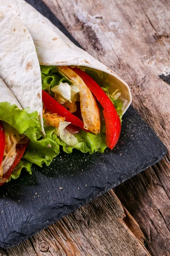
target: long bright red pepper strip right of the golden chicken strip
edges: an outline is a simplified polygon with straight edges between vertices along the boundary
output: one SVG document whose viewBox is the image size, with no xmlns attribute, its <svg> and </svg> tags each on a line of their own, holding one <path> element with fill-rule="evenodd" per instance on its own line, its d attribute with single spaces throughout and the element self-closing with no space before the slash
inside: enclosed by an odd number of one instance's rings
<svg viewBox="0 0 170 256">
<path fill-rule="evenodd" d="M 121 122 L 116 108 L 114 107 L 108 95 L 102 90 L 99 84 L 94 81 L 94 79 L 92 79 L 87 73 L 77 67 L 71 69 L 81 77 L 89 90 L 94 94 L 94 96 L 96 96 L 96 99 L 102 105 L 106 123 L 106 143 L 109 148 L 113 149 L 119 140 L 121 130 Z"/>
</svg>

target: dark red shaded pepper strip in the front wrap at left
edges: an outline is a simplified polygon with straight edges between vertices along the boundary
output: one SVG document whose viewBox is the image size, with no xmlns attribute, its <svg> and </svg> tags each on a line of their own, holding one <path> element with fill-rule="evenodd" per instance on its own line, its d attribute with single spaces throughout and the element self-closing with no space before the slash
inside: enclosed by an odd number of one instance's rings
<svg viewBox="0 0 170 256">
<path fill-rule="evenodd" d="M 11 176 L 11 173 L 14 171 L 14 168 L 18 165 L 18 163 L 20 162 L 21 158 L 23 157 L 23 154 L 26 150 L 28 143 L 25 144 L 17 144 L 16 145 L 16 157 L 14 159 L 13 164 L 11 165 L 11 167 L 8 169 L 8 171 L 3 175 L 3 178 L 6 178 L 8 180 L 8 178 Z M 2 186 L 4 183 L 0 183 L 0 186 Z"/>
</svg>

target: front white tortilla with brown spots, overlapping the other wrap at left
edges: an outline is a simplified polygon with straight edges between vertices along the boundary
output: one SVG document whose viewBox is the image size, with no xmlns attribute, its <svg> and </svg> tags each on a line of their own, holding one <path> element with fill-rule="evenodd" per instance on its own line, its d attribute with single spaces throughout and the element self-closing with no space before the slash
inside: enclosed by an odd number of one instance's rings
<svg viewBox="0 0 170 256">
<path fill-rule="evenodd" d="M 38 112 L 45 133 L 40 65 L 34 41 L 20 19 L 4 6 L 0 6 L 0 31 L 0 77 L 20 102 L 20 107 L 29 107 L 28 113 Z M 11 92 L 8 91 L 8 99 Z"/>
</svg>

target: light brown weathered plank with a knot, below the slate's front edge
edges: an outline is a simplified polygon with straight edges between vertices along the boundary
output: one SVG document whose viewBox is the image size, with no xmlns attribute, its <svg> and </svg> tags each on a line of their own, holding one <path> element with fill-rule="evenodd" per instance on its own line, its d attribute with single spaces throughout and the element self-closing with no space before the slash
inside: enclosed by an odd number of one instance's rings
<svg viewBox="0 0 170 256">
<path fill-rule="evenodd" d="M 149 256 L 127 227 L 122 204 L 110 191 L 2 256 Z M 140 238 L 143 236 L 133 221 Z M 132 226 L 132 225 L 131 225 Z"/>
</svg>

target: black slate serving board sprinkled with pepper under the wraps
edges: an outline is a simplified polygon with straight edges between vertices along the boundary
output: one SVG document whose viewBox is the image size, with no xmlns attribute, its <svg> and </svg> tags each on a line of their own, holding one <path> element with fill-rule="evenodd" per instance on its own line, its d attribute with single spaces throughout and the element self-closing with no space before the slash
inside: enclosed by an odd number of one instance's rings
<svg viewBox="0 0 170 256">
<path fill-rule="evenodd" d="M 29 0 L 74 43 L 41 0 Z M 0 187 L 0 248 L 28 239 L 95 197 L 133 177 L 166 154 L 166 148 L 132 106 L 123 116 L 119 143 L 104 154 L 61 152 L 51 166 Z M 63 188 L 60 190 L 59 188 Z"/>
</svg>

